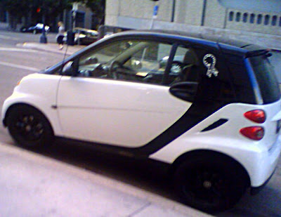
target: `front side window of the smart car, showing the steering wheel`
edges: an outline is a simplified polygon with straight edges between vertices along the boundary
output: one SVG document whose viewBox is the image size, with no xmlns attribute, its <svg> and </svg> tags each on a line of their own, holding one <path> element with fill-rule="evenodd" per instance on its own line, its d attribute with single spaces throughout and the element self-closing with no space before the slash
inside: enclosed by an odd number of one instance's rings
<svg viewBox="0 0 281 217">
<path fill-rule="evenodd" d="M 120 81 L 162 84 L 172 44 L 158 41 L 122 40 L 84 55 L 79 60 L 79 76 Z"/>
</svg>

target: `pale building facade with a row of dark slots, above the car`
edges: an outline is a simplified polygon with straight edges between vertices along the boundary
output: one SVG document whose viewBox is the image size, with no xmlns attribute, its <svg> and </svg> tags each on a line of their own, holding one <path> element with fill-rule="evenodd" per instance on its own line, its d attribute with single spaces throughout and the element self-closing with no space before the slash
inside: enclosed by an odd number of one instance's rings
<svg viewBox="0 0 281 217">
<path fill-rule="evenodd" d="M 173 1 L 174 19 L 173 15 Z M 233 29 L 281 36 L 280 0 L 159 0 L 155 28 L 197 27 Z M 149 29 L 154 2 L 107 0 L 105 25 Z M 244 9 L 241 9 L 244 8 Z M 264 9 L 264 11 L 263 11 Z M 174 22 L 172 22 L 174 21 Z"/>
</svg>

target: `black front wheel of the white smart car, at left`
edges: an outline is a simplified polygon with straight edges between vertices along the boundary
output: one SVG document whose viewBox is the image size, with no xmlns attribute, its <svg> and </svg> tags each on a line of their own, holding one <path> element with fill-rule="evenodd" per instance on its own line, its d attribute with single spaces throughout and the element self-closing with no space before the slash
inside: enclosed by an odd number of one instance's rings
<svg viewBox="0 0 281 217">
<path fill-rule="evenodd" d="M 38 148 L 53 143 L 54 135 L 48 119 L 29 105 L 14 105 L 6 117 L 8 131 L 18 145 Z"/>
</svg>

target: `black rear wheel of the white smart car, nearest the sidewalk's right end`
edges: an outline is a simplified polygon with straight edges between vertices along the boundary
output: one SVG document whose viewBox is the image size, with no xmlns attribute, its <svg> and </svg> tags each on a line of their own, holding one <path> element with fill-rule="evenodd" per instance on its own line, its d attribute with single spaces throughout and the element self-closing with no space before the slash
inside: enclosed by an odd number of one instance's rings
<svg viewBox="0 0 281 217">
<path fill-rule="evenodd" d="M 174 173 L 174 188 L 182 202 L 207 212 L 230 209 L 247 188 L 247 178 L 237 162 L 223 154 L 212 155 L 191 156 Z"/>
</svg>

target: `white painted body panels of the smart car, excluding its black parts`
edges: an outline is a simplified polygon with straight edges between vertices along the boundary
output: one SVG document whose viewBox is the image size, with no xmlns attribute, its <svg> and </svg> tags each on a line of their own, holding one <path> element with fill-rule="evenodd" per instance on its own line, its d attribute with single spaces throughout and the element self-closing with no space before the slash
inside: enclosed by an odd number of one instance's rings
<svg viewBox="0 0 281 217">
<path fill-rule="evenodd" d="M 30 74 L 22 79 L 20 86 L 15 87 L 13 95 L 5 100 L 1 117 L 4 119 L 11 105 L 25 103 L 46 115 L 55 136 L 124 147 L 140 147 L 152 140 L 155 134 L 162 133 L 166 126 L 174 124 L 174 121 L 191 105 L 169 96 L 167 88 L 162 86 L 128 83 L 124 88 L 124 85 L 118 86 L 116 81 L 97 79 L 96 82 L 93 81 L 95 85 L 92 86 L 91 82 L 89 79 L 59 75 Z M 100 88 L 99 83 L 106 83 L 103 87 L 106 86 L 108 89 Z M 90 93 L 98 91 L 98 97 L 91 99 L 84 94 L 85 90 Z M 74 92 L 78 93 L 77 96 L 69 97 L 74 96 Z M 108 101 L 106 99 L 112 98 L 108 92 L 122 97 Z M 131 100 L 136 98 L 138 99 L 136 104 L 131 104 Z M 77 104 L 78 99 L 83 106 Z M 169 103 L 159 106 L 164 99 L 168 99 Z M 53 105 L 57 105 L 58 110 L 54 110 Z M 281 100 L 266 106 L 242 103 L 227 105 L 149 157 L 173 164 L 186 152 L 194 150 L 221 152 L 240 162 L 249 173 L 251 186 L 259 187 L 266 182 L 277 165 L 281 152 L 281 137 L 268 134 L 263 140 L 255 142 L 245 138 L 239 133 L 239 129 L 253 123 L 244 119 L 241 114 L 262 108 L 268 115 L 268 121 L 263 126 L 266 129 L 274 128 L 275 131 L 275 125 L 271 122 L 281 119 L 280 107 Z M 81 114 L 77 112 L 79 110 L 83 116 L 79 116 Z M 206 126 L 214 123 L 218 116 L 229 121 L 213 131 L 201 132 Z M 237 119 L 238 116 L 241 118 Z M 107 134 L 108 131 L 111 132 L 110 135 Z"/>
</svg>

